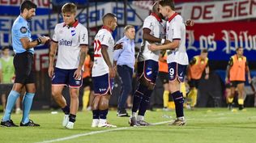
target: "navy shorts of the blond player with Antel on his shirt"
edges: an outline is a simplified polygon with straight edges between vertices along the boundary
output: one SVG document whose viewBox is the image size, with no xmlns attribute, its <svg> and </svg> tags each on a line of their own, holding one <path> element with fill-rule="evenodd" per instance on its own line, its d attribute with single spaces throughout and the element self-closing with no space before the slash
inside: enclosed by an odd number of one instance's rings
<svg viewBox="0 0 256 143">
<path fill-rule="evenodd" d="M 52 86 L 69 86 L 73 88 L 79 88 L 82 86 L 82 78 L 79 80 L 74 78 L 75 70 L 76 69 L 55 68 L 52 78 Z"/>
</svg>

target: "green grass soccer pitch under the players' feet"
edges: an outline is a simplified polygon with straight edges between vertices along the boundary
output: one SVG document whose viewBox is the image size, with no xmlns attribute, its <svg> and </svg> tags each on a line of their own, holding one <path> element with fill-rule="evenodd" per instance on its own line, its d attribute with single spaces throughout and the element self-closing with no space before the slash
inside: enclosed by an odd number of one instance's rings
<svg viewBox="0 0 256 143">
<path fill-rule="evenodd" d="M 128 117 L 117 117 L 109 111 L 109 122 L 117 128 L 91 128 L 91 111 L 77 116 L 75 128 L 62 128 L 61 111 L 32 111 L 30 118 L 40 128 L 0 128 L 1 143 L 32 142 L 86 142 L 86 143 L 255 143 L 256 108 L 247 111 L 228 111 L 227 108 L 197 108 L 185 111 L 186 126 L 169 126 L 174 111 L 147 111 L 149 127 L 130 127 Z M 2 117 L 2 114 L 1 114 Z M 19 124 L 21 115 L 12 115 Z"/>
</svg>

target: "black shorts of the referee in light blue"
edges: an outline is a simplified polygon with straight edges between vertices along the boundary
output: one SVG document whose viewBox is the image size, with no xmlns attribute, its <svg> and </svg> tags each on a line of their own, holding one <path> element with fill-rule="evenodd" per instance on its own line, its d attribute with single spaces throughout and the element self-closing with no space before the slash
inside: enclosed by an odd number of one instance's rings
<svg viewBox="0 0 256 143">
<path fill-rule="evenodd" d="M 35 83 L 33 72 L 34 56 L 30 52 L 16 53 L 14 57 L 15 83 L 29 84 Z"/>
</svg>

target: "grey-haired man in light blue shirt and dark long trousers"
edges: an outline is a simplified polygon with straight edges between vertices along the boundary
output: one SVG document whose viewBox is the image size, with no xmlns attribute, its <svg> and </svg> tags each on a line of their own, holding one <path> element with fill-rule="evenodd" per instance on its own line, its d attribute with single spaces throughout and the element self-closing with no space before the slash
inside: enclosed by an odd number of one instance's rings
<svg viewBox="0 0 256 143">
<path fill-rule="evenodd" d="M 122 80 L 122 95 L 118 99 L 117 116 L 128 116 L 126 112 L 126 99 L 132 90 L 132 75 L 135 62 L 135 28 L 127 25 L 125 28 L 125 36 L 117 41 L 122 43 L 122 49 L 114 51 L 113 62 L 117 65 L 117 73 Z"/>
</svg>

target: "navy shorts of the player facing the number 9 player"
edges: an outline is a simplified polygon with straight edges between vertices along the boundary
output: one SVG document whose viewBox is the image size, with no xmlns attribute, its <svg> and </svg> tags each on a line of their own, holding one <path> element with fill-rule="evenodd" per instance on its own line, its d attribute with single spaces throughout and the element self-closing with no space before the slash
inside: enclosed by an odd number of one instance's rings
<svg viewBox="0 0 256 143">
<path fill-rule="evenodd" d="M 138 78 L 147 79 L 151 83 L 156 83 L 156 78 L 158 75 L 158 62 L 153 60 L 139 61 L 138 62 Z"/>
</svg>

